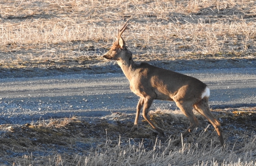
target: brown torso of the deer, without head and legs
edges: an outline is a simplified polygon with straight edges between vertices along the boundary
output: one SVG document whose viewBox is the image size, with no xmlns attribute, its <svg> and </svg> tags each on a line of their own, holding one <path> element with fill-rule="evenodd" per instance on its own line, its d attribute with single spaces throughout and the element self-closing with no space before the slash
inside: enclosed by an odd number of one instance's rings
<svg viewBox="0 0 256 166">
<path fill-rule="evenodd" d="M 130 64 L 130 66 L 119 65 L 125 76 L 127 75 L 131 91 L 140 97 L 154 96 L 154 99 L 157 100 L 174 101 L 180 100 L 177 97 L 180 93 L 185 94 L 184 99 L 186 94 L 193 93 L 194 96 L 190 100 L 197 103 L 202 99 L 203 92 L 201 92 L 201 89 L 207 88 L 205 83 L 194 77 L 151 66 L 148 63 L 137 64 L 131 62 Z M 180 80 L 183 81 L 180 82 Z M 179 82 L 178 85 L 177 82 Z M 194 84 L 195 82 L 196 84 Z"/>
</svg>

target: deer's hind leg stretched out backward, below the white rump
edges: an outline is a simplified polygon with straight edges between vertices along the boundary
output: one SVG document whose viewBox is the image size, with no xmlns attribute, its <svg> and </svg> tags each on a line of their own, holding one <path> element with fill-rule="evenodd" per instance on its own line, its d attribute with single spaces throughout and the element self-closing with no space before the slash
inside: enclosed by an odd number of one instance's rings
<svg viewBox="0 0 256 166">
<path fill-rule="evenodd" d="M 221 142 L 221 146 L 224 145 L 224 139 L 222 135 L 221 123 L 212 115 L 208 106 L 208 98 L 203 98 L 201 101 L 196 103 L 194 109 L 202 114 L 216 129 L 218 133 L 219 140 Z"/>
</svg>

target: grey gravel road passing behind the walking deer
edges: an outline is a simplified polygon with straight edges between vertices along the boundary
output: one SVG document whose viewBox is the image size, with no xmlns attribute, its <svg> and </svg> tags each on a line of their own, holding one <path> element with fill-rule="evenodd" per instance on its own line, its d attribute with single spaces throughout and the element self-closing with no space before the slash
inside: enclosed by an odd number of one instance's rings
<svg viewBox="0 0 256 166">
<path fill-rule="evenodd" d="M 256 106 L 256 68 L 178 71 L 211 89 L 210 106 Z M 55 77 L 0 79 L 0 124 L 25 124 L 61 117 L 102 117 L 134 113 L 139 97 L 124 74 L 68 74 Z M 154 100 L 151 109 L 176 109 L 174 102 Z M 134 116 L 135 117 L 135 116 Z"/>
</svg>

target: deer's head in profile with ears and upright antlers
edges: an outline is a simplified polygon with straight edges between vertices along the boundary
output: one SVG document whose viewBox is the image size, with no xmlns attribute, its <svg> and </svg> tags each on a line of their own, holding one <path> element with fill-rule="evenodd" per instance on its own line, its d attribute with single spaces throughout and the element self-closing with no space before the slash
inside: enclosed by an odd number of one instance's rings
<svg viewBox="0 0 256 166">
<path fill-rule="evenodd" d="M 111 49 L 103 55 L 105 59 L 109 60 L 121 60 L 127 57 L 127 48 L 125 46 L 125 40 L 122 39 L 121 35 L 125 31 L 125 29 L 129 29 L 127 26 L 129 23 L 127 23 L 128 20 L 125 22 L 125 25 L 118 29 L 118 34 L 116 37 L 116 41 L 113 43 L 113 46 Z M 130 59 L 130 57 L 128 58 Z"/>
</svg>

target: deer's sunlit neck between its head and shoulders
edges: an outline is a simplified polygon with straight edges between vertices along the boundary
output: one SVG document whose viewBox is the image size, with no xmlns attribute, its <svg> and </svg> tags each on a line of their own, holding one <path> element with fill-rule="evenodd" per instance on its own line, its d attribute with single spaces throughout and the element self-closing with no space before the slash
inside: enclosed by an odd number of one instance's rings
<svg viewBox="0 0 256 166">
<path fill-rule="evenodd" d="M 126 54 L 131 54 L 131 52 L 127 50 Z M 131 80 L 136 67 L 136 63 L 134 63 L 131 56 L 125 56 L 125 58 L 117 60 L 117 64 L 121 67 L 125 77 L 127 77 L 128 80 Z"/>
</svg>

